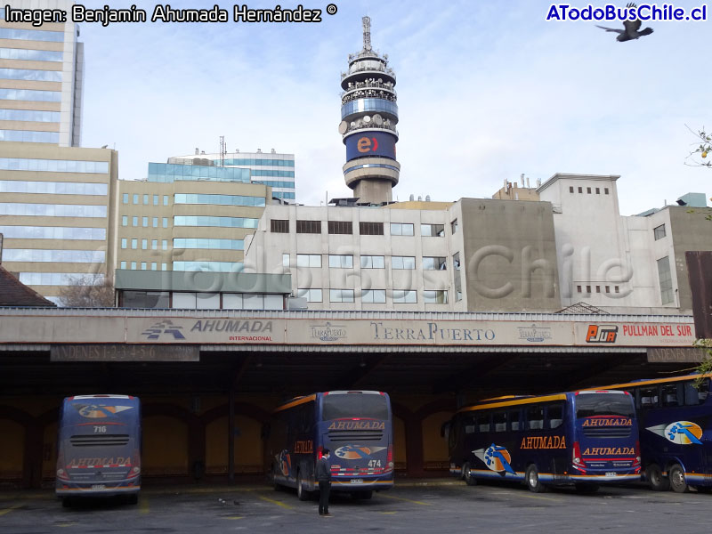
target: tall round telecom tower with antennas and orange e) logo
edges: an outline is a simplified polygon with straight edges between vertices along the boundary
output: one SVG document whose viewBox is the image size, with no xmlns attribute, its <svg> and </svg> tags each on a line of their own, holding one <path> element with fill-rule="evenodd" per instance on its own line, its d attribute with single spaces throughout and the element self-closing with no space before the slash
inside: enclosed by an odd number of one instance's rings
<svg viewBox="0 0 712 534">
<path fill-rule="evenodd" d="M 395 159 L 398 104 L 395 73 L 371 48 L 371 20 L 363 17 L 363 50 L 349 54 L 349 70 L 341 74 L 341 124 L 346 164 L 344 180 L 359 204 L 392 201 L 401 165 Z"/>
</svg>

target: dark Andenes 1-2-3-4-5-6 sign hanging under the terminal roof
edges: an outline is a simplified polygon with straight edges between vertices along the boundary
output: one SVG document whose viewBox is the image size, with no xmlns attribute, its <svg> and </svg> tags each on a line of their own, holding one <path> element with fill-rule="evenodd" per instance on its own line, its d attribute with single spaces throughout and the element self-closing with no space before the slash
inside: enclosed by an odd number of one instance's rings
<svg viewBox="0 0 712 534">
<path fill-rule="evenodd" d="M 50 361 L 200 361 L 198 345 L 64 344 L 50 347 Z"/>
</svg>

